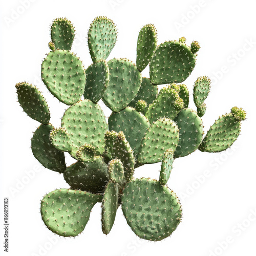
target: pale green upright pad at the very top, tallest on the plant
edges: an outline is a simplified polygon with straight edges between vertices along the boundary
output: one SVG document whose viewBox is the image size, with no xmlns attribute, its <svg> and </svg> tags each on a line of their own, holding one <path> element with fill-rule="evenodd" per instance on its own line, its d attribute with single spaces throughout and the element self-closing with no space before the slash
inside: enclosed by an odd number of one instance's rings
<svg viewBox="0 0 256 256">
<path fill-rule="evenodd" d="M 97 17 L 88 31 L 88 46 L 93 62 L 109 57 L 116 44 L 116 25 L 107 17 Z"/>
</svg>

